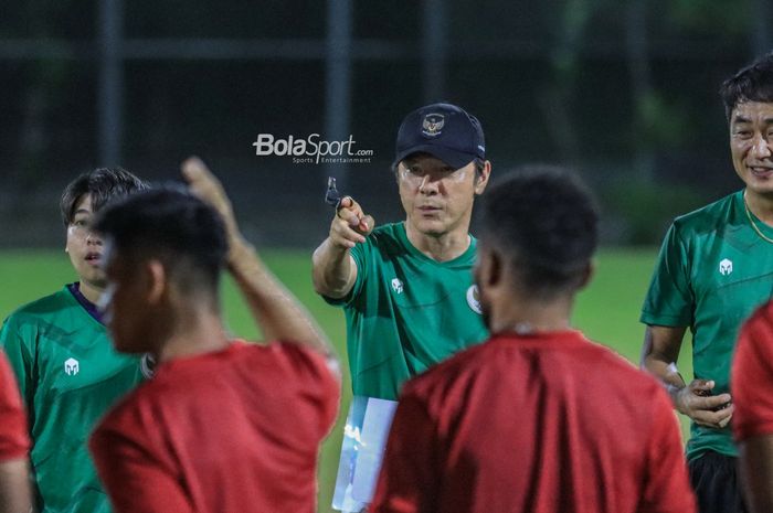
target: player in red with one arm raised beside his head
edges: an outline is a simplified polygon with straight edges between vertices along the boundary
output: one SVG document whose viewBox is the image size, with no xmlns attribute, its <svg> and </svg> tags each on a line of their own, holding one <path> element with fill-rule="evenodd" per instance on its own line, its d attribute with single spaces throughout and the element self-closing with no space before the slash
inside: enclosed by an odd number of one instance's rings
<svg viewBox="0 0 773 513">
<path fill-rule="evenodd" d="M 319 443 L 338 409 L 331 349 L 242 238 L 220 183 L 183 164 L 194 195 L 138 194 L 97 229 L 120 352 L 158 357 L 91 439 L 118 513 L 315 511 Z M 220 213 L 220 214 L 219 214 Z M 218 285 L 226 264 L 268 344 L 230 340 Z"/>
</svg>

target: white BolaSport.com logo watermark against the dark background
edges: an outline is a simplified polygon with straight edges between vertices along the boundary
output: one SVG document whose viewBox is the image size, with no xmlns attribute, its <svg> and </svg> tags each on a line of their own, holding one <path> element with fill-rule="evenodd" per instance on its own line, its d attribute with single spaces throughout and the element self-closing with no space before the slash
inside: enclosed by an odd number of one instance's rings
<svg viewBox="0 0 773 513">
<path fill-rule="evenodd" d="M 357 141 L 352 136 L 343 141 L 328 141 L 319 133 L 306 138 L 288 136 L 277 139 L 271 133 L 258 133 L 252 146 L 258 157 L 292 157 L 294 164 L 319 163 L 370 163 L 373 150 L 354 148 Z"/>
</svg>

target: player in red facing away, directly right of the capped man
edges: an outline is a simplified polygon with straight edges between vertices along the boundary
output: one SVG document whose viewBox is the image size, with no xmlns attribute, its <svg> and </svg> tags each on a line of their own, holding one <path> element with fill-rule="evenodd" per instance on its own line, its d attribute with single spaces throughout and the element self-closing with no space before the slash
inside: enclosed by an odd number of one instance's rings
<svg viewBox="0 0 773 513">
<path fill-rule="evenodd" d="M 373 511 L 693 512 L 663 387 L 570 328 L 597 238 L 587 192 L 523 170 L 481 207 L 491 338 L 405 385 Z"/>
</svg>

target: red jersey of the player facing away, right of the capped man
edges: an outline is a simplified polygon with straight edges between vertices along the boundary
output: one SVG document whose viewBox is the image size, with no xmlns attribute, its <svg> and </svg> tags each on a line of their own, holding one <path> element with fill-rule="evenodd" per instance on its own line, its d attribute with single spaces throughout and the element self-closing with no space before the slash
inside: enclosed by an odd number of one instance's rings
<svg viewBox="0 0 773 513">
<path fill-rule="evenodd" d="M 373 511 L 695 512 L 660 385 L 580 332 L 497 335 L 405 386 Z"/>
</svg>

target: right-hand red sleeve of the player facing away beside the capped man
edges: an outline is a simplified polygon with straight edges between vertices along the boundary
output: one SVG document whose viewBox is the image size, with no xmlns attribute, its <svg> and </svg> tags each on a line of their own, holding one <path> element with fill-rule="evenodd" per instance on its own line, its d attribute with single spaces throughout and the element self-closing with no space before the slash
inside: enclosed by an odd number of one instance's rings
<svg viewBox="0 0 773 513">
<path fill-rule="evenodd" d="M 677 417 L 666 393 L 659 386 L 655 392 L 643 504 L 637 511 L 695 513 L 696 499 L 690 487 Z"/>
</svg>

